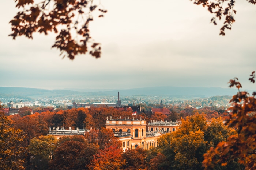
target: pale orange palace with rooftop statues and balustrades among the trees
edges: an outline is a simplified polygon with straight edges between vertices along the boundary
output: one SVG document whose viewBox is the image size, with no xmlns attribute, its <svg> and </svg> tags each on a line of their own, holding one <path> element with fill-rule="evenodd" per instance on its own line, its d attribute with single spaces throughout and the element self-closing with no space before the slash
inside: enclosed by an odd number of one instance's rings
<svg viewBox="0 0 256 170">
<path fill-rule="evenodd" d="M 149 149 L 150 147 L 157 147 L 158 139 L 166 133 L 171 133 L 179 127 L 179 123 L 174 122 L 163 122 L 163 121 L 151 121 L 148 123 L 148 131 L 146 131 L 146 120 L 135 119 L 134 117 L 125 117 L 117 119 L 107 117 L 106 128 L 111 129 L 114 136 L 117 137 L 122 142 L 123 151 L 125 149 L 136 149 L 136 147 L 141 147 L 142 149 Z M 86 131 L 90 130 L 69 130 L 61 129 L 59 127 L 49 129 L 48 135 L 54 135 L 57 139 L 64 136 L 70 135 L 84 135 Z"/>
</svg>

